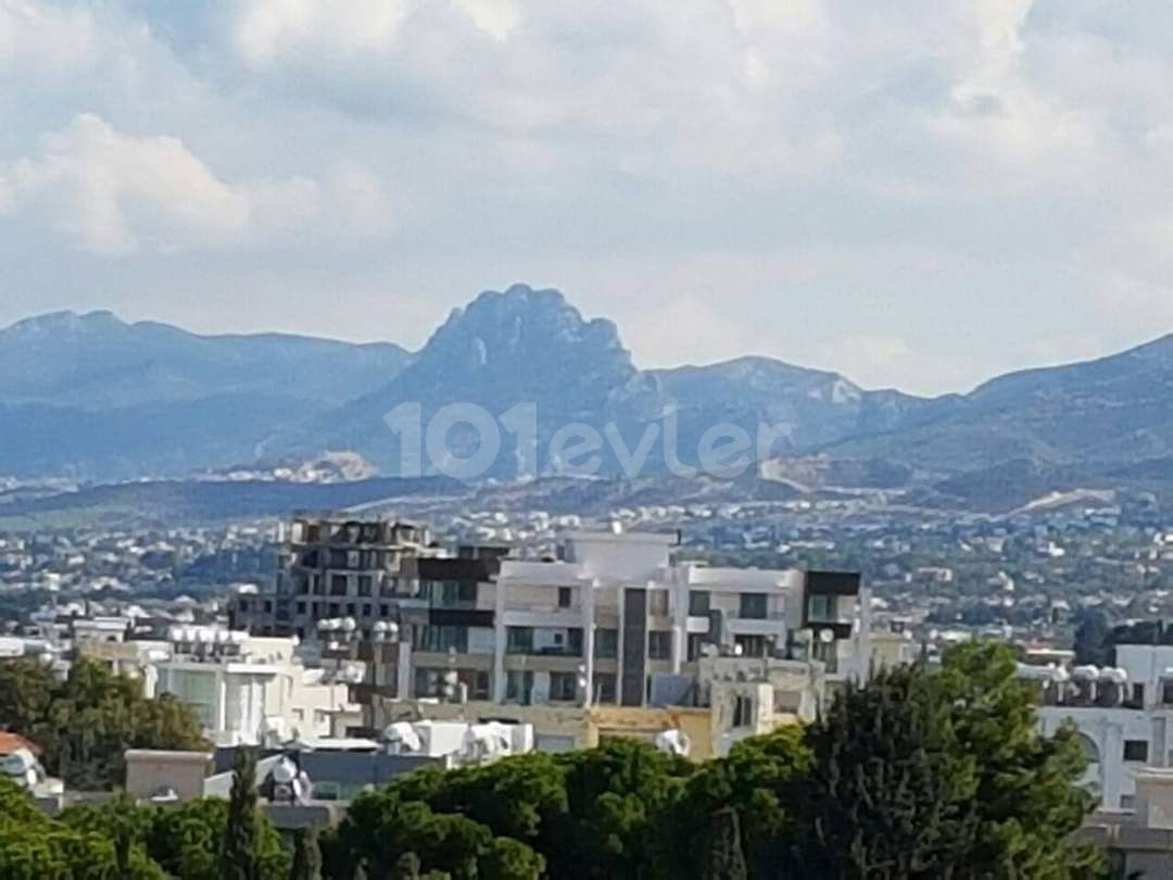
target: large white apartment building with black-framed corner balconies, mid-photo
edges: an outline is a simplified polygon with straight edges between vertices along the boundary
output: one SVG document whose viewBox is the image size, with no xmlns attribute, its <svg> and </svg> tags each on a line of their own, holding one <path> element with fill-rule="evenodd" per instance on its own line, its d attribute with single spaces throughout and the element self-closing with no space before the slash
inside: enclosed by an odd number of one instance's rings
<svg viewBox="0 0 1173 880">
<path fill-rule="evenodd" d="M 859 575 L 678 562 L 677 544 L 676 535 L 579 532 L 557 559 L 496 557 L 495 574 L 423 577 L 400 602 L 401 622 L 375 630 L 368 684 L 398 699 L 455 686 L 502 704 L 644 706 L 657 689 L 696 686 L 710 655 L 818 659 L 840 681 L 866 673 Z"/>
</svg>

